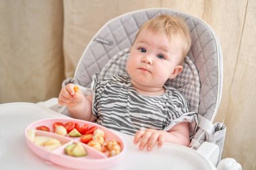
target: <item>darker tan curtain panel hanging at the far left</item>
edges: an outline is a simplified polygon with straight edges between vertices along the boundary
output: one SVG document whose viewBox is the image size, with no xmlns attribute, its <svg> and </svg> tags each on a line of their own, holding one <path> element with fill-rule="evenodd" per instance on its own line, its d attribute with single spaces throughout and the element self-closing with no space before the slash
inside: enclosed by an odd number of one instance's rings
<svg viewBox="0 0 256 170">
<path fill-rule="evenodd" d="M 0 1 L 0 103 L 57 96 L 63 73 L 63 1 Z"/>
</svg>

